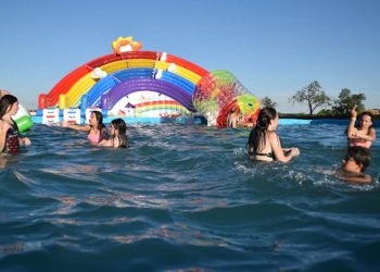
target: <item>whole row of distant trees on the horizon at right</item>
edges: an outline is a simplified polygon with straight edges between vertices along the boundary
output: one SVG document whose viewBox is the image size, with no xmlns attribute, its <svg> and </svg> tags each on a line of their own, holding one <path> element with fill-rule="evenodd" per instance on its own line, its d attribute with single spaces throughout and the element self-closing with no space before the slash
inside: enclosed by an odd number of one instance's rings
<svg viewBox="0 0 380 272">
<path fill-rule="evenodd" d="M 312 116 L 317 108 L 330 107 L 329 109 L 322 109 L 318 112 L 318 115 L 346 115 L 350 114 L 351 109 L 356 104 L 356 110 L 362 112 L 365 110 L 363 101 L 366 100 L 364 94 L 351 94 L 351 89 L 343 88 L 337 99 L 329 97 L 322 89 L 317 81 L 312 82 L 306 87 L 297 90 L 294 96 L 289 98 L 289 102 L 292 104 L 301 103 L 306 104 L 308 114 Z M 262 99 L 263 107 L 276 108 L 277 102 L 273 101 L 269 97 Z"/>
</svg>

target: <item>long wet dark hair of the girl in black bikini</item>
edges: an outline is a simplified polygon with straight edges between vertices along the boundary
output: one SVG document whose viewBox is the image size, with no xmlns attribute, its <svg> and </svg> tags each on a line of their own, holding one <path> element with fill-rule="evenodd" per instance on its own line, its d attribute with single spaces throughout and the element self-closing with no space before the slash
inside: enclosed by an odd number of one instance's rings
<svg viewBox="0 0 380 272">
<path fill-rule="evenodd" d="M 274 108 L 266 107 L 259 111 L 256 125 L 252 128 L 245 146 L 250 156 L 255 154 L 257 150 L 264 147 L 270 121 L 276 118 L 277 111 Z"/>
</svg>

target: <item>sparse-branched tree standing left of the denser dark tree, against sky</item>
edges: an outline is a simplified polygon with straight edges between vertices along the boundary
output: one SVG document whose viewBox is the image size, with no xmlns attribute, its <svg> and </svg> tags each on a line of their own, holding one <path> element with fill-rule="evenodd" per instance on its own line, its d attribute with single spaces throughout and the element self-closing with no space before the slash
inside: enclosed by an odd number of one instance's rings
<svg viewBox="0 0 380 272">
<path fill-rule="evenodd" d="M 326 95 L 317 81 L 312 82 L 306 87 L 297 90 L 294 96 L 289 99 L 294 103 L 306 103 L 308 114 L 312 116 L 316 108 L 330 104 L 331 98 Z"/>
</svg>

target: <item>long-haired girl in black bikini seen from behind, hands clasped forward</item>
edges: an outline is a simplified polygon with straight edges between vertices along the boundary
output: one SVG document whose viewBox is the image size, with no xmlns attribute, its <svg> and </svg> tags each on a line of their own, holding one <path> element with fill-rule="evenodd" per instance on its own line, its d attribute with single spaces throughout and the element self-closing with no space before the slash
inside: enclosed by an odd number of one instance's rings
<svg viewBox="0 0 380 272">
<path fill-rule="evenodd" d="M 299 148 L 282 148 L 276 133 L 278 114 L 274 108 L 259 111 L 256 125 L 246 143 L 248 153 L 252 160 L 289 162 L 300 154 Z"/>
</svg>

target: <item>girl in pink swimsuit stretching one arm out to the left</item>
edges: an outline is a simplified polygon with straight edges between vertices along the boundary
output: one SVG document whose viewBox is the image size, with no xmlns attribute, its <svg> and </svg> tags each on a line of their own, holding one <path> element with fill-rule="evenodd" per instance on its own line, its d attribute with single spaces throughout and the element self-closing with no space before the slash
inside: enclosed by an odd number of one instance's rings
<svg viewBox="0 0 380 272">
<path fill-rule="evenodd" d="M 100 111 L 92 111 L 88 125 L 68 124 L 67 121 L 61 123 L 63 127 L 69 127 L 75 131 L 88 132 L 87 139 L 91 145 L 98 145 L 103 139 L 106 139 L 106 128 L 103 124 L 103 114 Z"/>
</svg>

